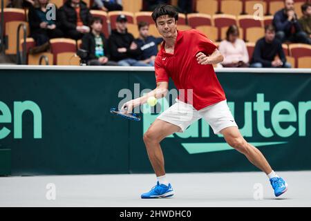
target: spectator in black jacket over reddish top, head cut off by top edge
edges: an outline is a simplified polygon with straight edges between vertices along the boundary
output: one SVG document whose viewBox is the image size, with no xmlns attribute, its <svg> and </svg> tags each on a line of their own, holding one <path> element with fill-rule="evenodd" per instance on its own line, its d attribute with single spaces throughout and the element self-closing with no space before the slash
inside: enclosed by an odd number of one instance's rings
<svg viewBox="0 0 311 221">
<path fill-rule="evenodd" d="M 84 1 L 67 0 L 64 6 L 59 8 L 59 16 L 66 37 L 82 39 L 85 33 L 90 32 L 88 25 L 92 16 Z"/>
</svg>

